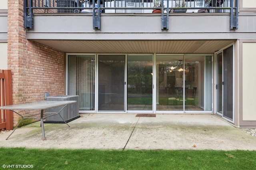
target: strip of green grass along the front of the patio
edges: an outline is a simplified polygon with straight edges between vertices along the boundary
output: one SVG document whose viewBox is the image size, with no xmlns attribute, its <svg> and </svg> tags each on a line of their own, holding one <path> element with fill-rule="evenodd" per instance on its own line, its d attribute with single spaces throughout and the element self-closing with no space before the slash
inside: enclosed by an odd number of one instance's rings
<svg viewBox="0 0 256 170">
<path fill-rule="evenodd" d="M 37 170 L 252 170 L 256 164 L 256 151 L 247 150 L 122 151 L 0 148 L 0 155 L 0 168 L 3 164 L 33 165 L 33 169 Z"/>
</svg>

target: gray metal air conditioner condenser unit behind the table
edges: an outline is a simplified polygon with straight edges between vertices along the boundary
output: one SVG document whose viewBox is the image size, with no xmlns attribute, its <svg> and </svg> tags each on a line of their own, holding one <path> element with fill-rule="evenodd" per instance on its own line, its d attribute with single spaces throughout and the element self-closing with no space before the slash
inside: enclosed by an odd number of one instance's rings
<svg viewBox="0 0 256 170">
<path fill-rule="evenodd" d="M 67 105 L 61 112 L 60 115 L 63 117 L 64 121 L 67 123 L 73 121 L 80 117 L 79 115 L 79 96 L 78 95 L 61 95 L 61 96 L 50 96 L 46 97 L 48 101 L 76 101 L 76 103 L 72 103 Z M 60 111 L 63 106 L 54 107 L 51 109 L 47 109 L 46 112 L 55 113 Z M 54 115 L 50 117 L 46 117 L 44 123 L 64 123 L 61 119 L 60 115 Z"/>
</svg>

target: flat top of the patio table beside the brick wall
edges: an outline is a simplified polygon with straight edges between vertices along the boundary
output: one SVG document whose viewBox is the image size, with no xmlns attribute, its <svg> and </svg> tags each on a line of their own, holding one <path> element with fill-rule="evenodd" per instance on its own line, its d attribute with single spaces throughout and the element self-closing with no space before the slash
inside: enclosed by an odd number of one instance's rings
<svg viewBox="0 0 256 170">
<path fill-rule="evenodd" d="M 76 101 L 35 101 L 30 103 L 21 103 L 16 105 L 0 106 L 2 110 L 42 110 L 76 103 Z"/>
</svg>

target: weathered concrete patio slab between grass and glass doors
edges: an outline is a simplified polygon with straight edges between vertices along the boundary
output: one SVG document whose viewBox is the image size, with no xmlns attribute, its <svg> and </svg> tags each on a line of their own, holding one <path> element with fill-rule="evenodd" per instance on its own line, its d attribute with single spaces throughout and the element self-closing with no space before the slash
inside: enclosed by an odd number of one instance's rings
<svg viewBox="0 0 256 170">
<path fill-rule="evenodd" d="M 82 114 L 66 124 L 40 122 L 0 132 L 0 147 L 116 150 L 256 150 L 256 137 L 210 114 Z"/>
</svg>

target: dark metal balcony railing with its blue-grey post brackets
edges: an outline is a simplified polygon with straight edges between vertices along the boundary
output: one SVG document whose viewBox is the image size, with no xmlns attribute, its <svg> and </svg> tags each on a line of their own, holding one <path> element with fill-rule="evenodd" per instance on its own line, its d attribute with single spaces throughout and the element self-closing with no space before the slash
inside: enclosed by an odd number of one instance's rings
<svg viewBox="0 0 256 170">
<path fill-rule="evenodd" d="M 92 13 L 93 27 L 100 29 L 103 13 L 149 14 L 155 10 L 160 10 L 162 29 L 168 29 L 170 13 L 182 12 L 229 13 L 230 29 L 238 29 L 238 0 L 24 0 L 25 28 L 29 29 L 35 13 Z"/>
</svg>

